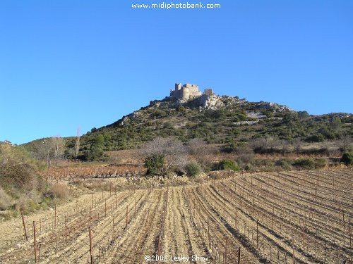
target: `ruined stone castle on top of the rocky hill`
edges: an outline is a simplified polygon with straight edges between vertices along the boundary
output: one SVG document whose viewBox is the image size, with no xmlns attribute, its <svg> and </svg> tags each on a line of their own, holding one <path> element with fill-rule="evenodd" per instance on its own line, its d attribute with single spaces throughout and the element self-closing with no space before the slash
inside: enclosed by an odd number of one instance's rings
<svg viewBox="0 0 353 264">
<path fill-rule="evenodd" d="M 203 94 L 205 95 L 213 95 L 213 90 L 212 89 L 205 89 Z M 181 84 L 176 83 L 175 84 L 175 89 L 170 90 L 170 97 L 172 99 L 177 99 L 179 101 L 189 101 L 192 99 L 196 99 L 198 97 L 201 97 L 203 95 L 201 91 L 198 89 L 198 85 L 196 84 L 184 84 L 181 86 Z"/>
</svg>

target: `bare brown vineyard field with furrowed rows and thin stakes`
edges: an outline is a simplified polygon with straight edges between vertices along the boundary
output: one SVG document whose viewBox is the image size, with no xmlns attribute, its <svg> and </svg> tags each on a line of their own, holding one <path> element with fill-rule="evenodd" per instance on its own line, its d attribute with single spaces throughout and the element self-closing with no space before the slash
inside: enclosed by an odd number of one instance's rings
<svg viewBox="0 0 353 264">
<path fill-rule="evenodd" d="M 0 263 L 148 263 L 146 256 L 167 256 L 152 263 L 172 263 L 171 256 L 189 263 L 352 263 L 352 191 L 349 169 L 124 191 L 113 184 L 1 223 Z"/>
</svg>

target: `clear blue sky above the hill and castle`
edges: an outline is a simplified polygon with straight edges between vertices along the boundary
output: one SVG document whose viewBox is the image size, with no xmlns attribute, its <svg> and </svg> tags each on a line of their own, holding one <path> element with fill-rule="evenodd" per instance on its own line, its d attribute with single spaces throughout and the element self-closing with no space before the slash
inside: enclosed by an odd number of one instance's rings
<svg viewBox="0 0 353 264">
<path fill-rule="evenodd" d="M 175 82 L 311 114 L 353 112 L 353 1 L 131 8 L 159 2 L 0 1 L 0 140 L 85 133 Z"/>
</svg>

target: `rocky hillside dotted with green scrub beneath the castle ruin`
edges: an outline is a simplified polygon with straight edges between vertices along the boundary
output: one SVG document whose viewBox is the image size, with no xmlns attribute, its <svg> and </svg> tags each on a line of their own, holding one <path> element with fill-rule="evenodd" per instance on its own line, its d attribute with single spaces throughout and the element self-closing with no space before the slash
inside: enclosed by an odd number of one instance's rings
<svg viewBox="0 0 353 264">
<path fill-rule="evenodd" d="M 232 145 L 266 137 L 323 142 L 351 138 L 352 120 L 349 113 L 309 115 L 276 103 L 249 102 L 237 96 L 213 94 L 184 103 L 166 97 L 151 101 L 110 125 L 93 128 L 81 137 L 80 153 L 85 158 L 98 135 L 104 151 L 135 149 L 157 136 L 177 137 L 181 142 L 202 138 L 209 144 Z M 35 149 L 33 144 L 25 146 Z M 66 146 L 74 148 L 73 137 L 66 139 Z"/>
</svg>

